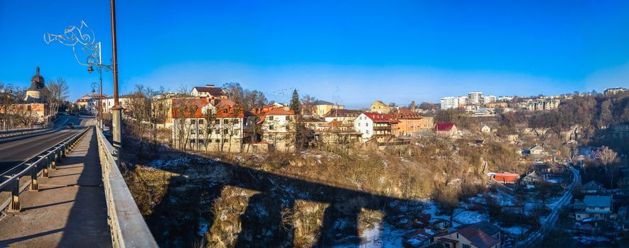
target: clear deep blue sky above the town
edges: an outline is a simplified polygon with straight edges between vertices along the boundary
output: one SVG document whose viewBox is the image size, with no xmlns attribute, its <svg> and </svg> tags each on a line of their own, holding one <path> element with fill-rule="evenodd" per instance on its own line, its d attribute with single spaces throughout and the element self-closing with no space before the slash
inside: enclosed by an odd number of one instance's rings
<svg viewBox="0 0 629 248">
<path fill-rule="evenodd" d="M 85 20 L 109 61 L 109 1 L 86 3 L 0 1 L 0 81 L 27 86 L 39 64 L 89 93 L 97 75 L 43 42 Z M 119 1 L 117 22 L 123 92 L 237 81 L 364 107 L 629 86 L 626 1 Z"/>
</svg>

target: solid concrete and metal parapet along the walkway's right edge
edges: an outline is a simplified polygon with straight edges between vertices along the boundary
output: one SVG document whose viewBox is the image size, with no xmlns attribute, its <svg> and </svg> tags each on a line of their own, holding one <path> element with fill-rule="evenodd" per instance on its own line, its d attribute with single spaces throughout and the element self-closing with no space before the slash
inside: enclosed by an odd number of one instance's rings
<svg viewBox="0 0 629 248">
<path fill-rule="evenodd" d="M 118 169 L 114 147 L 102 135 L 100 128 L 96 130 L 108 222 L 112 229 L 114 247 L 158 247 Z"/>
</svg>

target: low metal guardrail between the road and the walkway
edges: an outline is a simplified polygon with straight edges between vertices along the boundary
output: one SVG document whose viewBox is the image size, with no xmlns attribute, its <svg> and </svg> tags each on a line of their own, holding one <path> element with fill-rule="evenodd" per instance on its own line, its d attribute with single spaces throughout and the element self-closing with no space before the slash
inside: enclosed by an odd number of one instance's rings
<svg viewBox="0 0 629 248">
<path fill-rule="evenodd" d="M 4 209 L 9 205 L 9 212 L 19 212 L 21 210 L 20 192 L 27 186 L 30 186 L 31 191 L 39 191 L 37 176 L 40 174 L 40 171 L 42 177 L 48 177 L 48 170 L 56 169 L 56 162 L 65 157 L 77 145 L 80 139 L 85 136 L 87 130 L 89 128 L 85 128 L 85 130 L 76 135 L 72 135 L 72 137 L 59 142 L 50 149 L 0 174 L 0 190 L 11 192 L 11 198 L 0 205 L 0 209 Z M 31 182 L 20 186 L 20 179 L 25 175 L 31 176 Z"/>
</svg>

